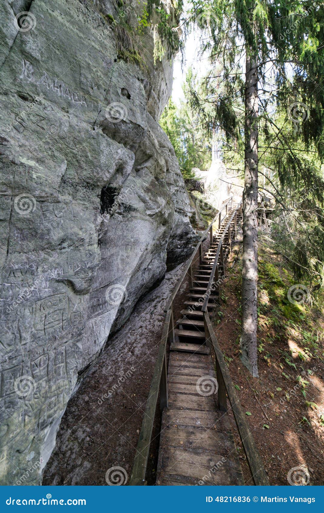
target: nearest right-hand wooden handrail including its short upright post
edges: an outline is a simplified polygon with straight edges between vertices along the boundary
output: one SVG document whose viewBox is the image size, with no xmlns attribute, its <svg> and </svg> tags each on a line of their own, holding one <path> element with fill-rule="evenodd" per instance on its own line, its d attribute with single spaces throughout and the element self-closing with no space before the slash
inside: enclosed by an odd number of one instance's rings
<svg viewBox="0 0 324 513">
<path fill-rule="evenodd" d="M 211 345 L 215 352 L 219 408 L 223 411 L 227 410 L 227 392 L 234 414 L 234 419 L 237 425 L 239 437 L 241 439 L 242 446 L 244 447 L 246 453 L 247 461 L 251 470 L 254 484 L 257 486 L 269 486 L 270 483 L 268 480 L 268 476 L 266 474 L 261 457 L 255 445 L 250 427 L 246 420 L 245 413 L 240 405 L 237 392 L 233 385 L 233 381 L 228 370 L 228 367 L 226 365 L 224 356 L 221 352 L 218 341 L 216 339 L 216 335 L 214 333 L 212 323 L 209 319 L 208 312 L 206 311 L 204 312 L 204 324 L 206 330 L 206 340 L 208 335 L 208 340 L 211 342 Z"/>
</svg>

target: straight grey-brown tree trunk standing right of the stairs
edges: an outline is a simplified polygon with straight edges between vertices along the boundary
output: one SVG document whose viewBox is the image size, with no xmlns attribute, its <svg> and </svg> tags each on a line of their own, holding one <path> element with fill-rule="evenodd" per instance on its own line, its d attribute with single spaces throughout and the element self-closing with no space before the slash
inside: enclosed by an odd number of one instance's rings
<svg viewBox="0 0 324 513">
<path fill-rule="evenodd" d="M 252 376 L 257 368 L 257 200 L 258 200 L 258 70 L 257 57 L 247 47 L 245 75 L 245 171 L 242 255 L 242 363 Z"/>
</svg>

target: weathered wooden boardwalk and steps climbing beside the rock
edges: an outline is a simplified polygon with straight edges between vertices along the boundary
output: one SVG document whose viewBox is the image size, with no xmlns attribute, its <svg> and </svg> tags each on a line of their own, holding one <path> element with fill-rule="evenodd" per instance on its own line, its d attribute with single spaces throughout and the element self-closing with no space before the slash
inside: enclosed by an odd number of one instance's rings
<svg viewBox="0 0 324 513">
<path fill-rule="evenodd" d="M 156 485 L 244 484 L 228 415 L 217 409 L 216 374 L 201 311 L 220 235 L 233 211 L 200 259 L 181 311 L 183 317 L 176 322 L 168 366 L 169 406 L 162 417 Z M 218 263 L 219 277 L 230 250 L 229 231 Z M 216 286 L 208 310 L 212 311 L 218 301 Z"/>
</svg>

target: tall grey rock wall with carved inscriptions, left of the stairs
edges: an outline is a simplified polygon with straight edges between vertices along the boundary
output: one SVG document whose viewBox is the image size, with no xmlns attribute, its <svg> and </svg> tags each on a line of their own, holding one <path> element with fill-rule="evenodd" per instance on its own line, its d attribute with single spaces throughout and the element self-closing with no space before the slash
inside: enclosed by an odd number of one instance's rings
<svg viewBox="0 0 324 513">
<path fill-rule="evenodd" d="M 172 63 L 149 32 L 120 58 L 118 5 L 0 0 L 1 484 L 41 482 L 80 374 L 195 242 L 157 123 Z"/>
</svg>

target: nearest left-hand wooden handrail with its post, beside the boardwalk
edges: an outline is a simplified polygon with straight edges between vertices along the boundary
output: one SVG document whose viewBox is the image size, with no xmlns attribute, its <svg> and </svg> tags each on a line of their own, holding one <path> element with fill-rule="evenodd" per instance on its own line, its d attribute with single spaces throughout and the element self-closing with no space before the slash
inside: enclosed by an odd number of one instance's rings
<svg viewBox="0 0 324 513">
<path fill-rule="evenodd" d="M 169 336 L 169 328 L 172 311 L 169 310 L 164 323 L 161 342 L 158 349 L 157 359 L 154 367 L 149 397 L 146 402 L 143 422 L 140 428 L 139 438 L 136 446 L 136 455 L 132 467 L 129 485 L 146 485 L 145 473 L 150 452 L 153 423 L 156 410 L 158 391 L 160 389 L 161 409 L 168 407 L 168 384 L 167 384 L 167 362 L 166 345 Z"/>
</svg>

